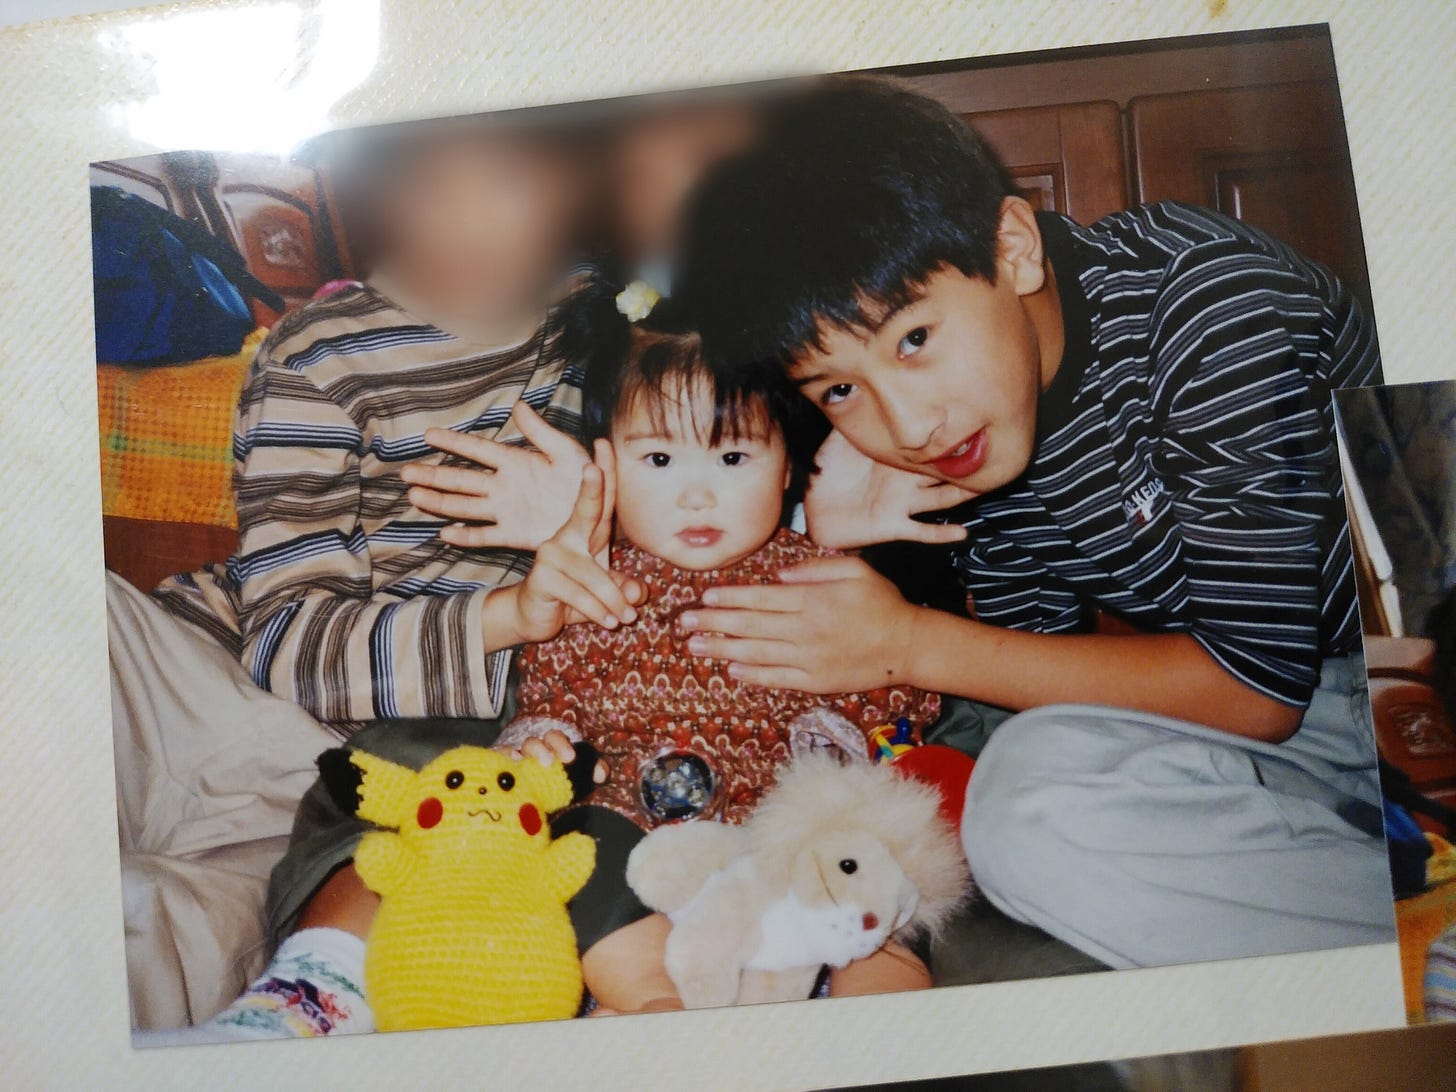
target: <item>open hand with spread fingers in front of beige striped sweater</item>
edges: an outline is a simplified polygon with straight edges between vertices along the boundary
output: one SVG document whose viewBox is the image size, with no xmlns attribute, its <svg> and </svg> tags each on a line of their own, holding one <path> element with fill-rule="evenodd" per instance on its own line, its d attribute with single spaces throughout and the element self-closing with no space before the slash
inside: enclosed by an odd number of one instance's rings
<svg viewBox="0 0 1456 1092">
<path fill-rule="evenodd" d="M 581 444 L 547 425 L 524 402 L 511 419 L 536 450 L 513 447 L 448 428 L 425 431 L 425 443 L 483 469 L 409 463 L 399 476 L 409 502 L 430 515 L 460 523 L 440 529 L 451 546 L 539 549 L 571 514 L 590 459 Z"/>
</svg>

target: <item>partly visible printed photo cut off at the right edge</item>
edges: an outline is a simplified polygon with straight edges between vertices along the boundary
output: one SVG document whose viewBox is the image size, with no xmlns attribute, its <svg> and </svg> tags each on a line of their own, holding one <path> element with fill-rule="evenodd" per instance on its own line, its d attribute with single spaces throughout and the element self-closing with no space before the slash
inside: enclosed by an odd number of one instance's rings
<svg viewBox="0 0 1456 1092">
<path fill-rule="evenodd" d="M 1456 381 L 1335 395 L 1411 1024 L 1456 1021 Z"/>
</svg>

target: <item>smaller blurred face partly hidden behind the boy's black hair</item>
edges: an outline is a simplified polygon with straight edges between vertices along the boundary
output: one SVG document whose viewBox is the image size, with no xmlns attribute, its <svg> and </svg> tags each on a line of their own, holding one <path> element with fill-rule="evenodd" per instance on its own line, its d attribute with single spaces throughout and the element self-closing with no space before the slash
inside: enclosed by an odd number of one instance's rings
<svg viewBox="0 0 1456 1092">
<path fill-rule="evenodd" d="M 612 204 L 628 259 L 671 259 L 683 205 L 703 173 L 753 137 L 745 103 L 667 108 L 629 124 L 610 156 Z"/>
</svg>

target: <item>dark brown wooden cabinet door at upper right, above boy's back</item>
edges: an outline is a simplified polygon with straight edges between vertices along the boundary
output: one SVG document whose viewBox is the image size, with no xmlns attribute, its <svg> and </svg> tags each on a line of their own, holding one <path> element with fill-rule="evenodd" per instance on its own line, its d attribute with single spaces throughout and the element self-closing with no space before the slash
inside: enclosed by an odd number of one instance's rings
<svg viewBox="0 0 1456 1092">
<path fill-rule="evenodd" d="M 1127 106 L 1133 199 L 1217 208 L 1334 269 L 1369 300 L 1332 80 L 1150 95 Z"/>
</svg>

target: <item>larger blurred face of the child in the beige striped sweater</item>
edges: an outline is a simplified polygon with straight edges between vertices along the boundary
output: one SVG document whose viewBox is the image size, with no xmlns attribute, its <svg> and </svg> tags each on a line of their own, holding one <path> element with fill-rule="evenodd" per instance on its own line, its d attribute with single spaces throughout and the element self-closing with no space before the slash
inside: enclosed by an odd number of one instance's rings
<svg viewBox="0 0 1456 1092">
<path fill-rule="evenodd" d="M 565 151 L 459 131 L 406 154 L 376 207 L 383 269 L 448 314 L 498 319 L 545 306 L 577 220 Z"/>
</svg>

